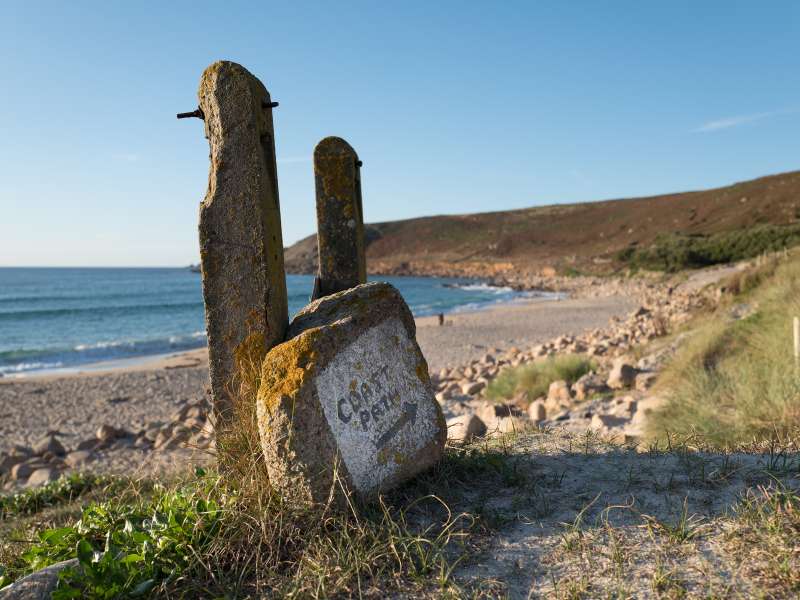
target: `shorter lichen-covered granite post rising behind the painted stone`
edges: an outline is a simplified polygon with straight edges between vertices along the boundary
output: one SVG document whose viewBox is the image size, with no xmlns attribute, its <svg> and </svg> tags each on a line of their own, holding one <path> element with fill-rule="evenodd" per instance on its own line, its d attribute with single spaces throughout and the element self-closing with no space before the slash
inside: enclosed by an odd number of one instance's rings
<svg viewBox="0 0 800 600">
<path fill-rule="evenodd" d="M 356 151 L 342 138 L 323 139 L 314 149 L 314 179 L 319 274 L 312 300 L 367 281 L 361 161 Z"/>
</svg>

